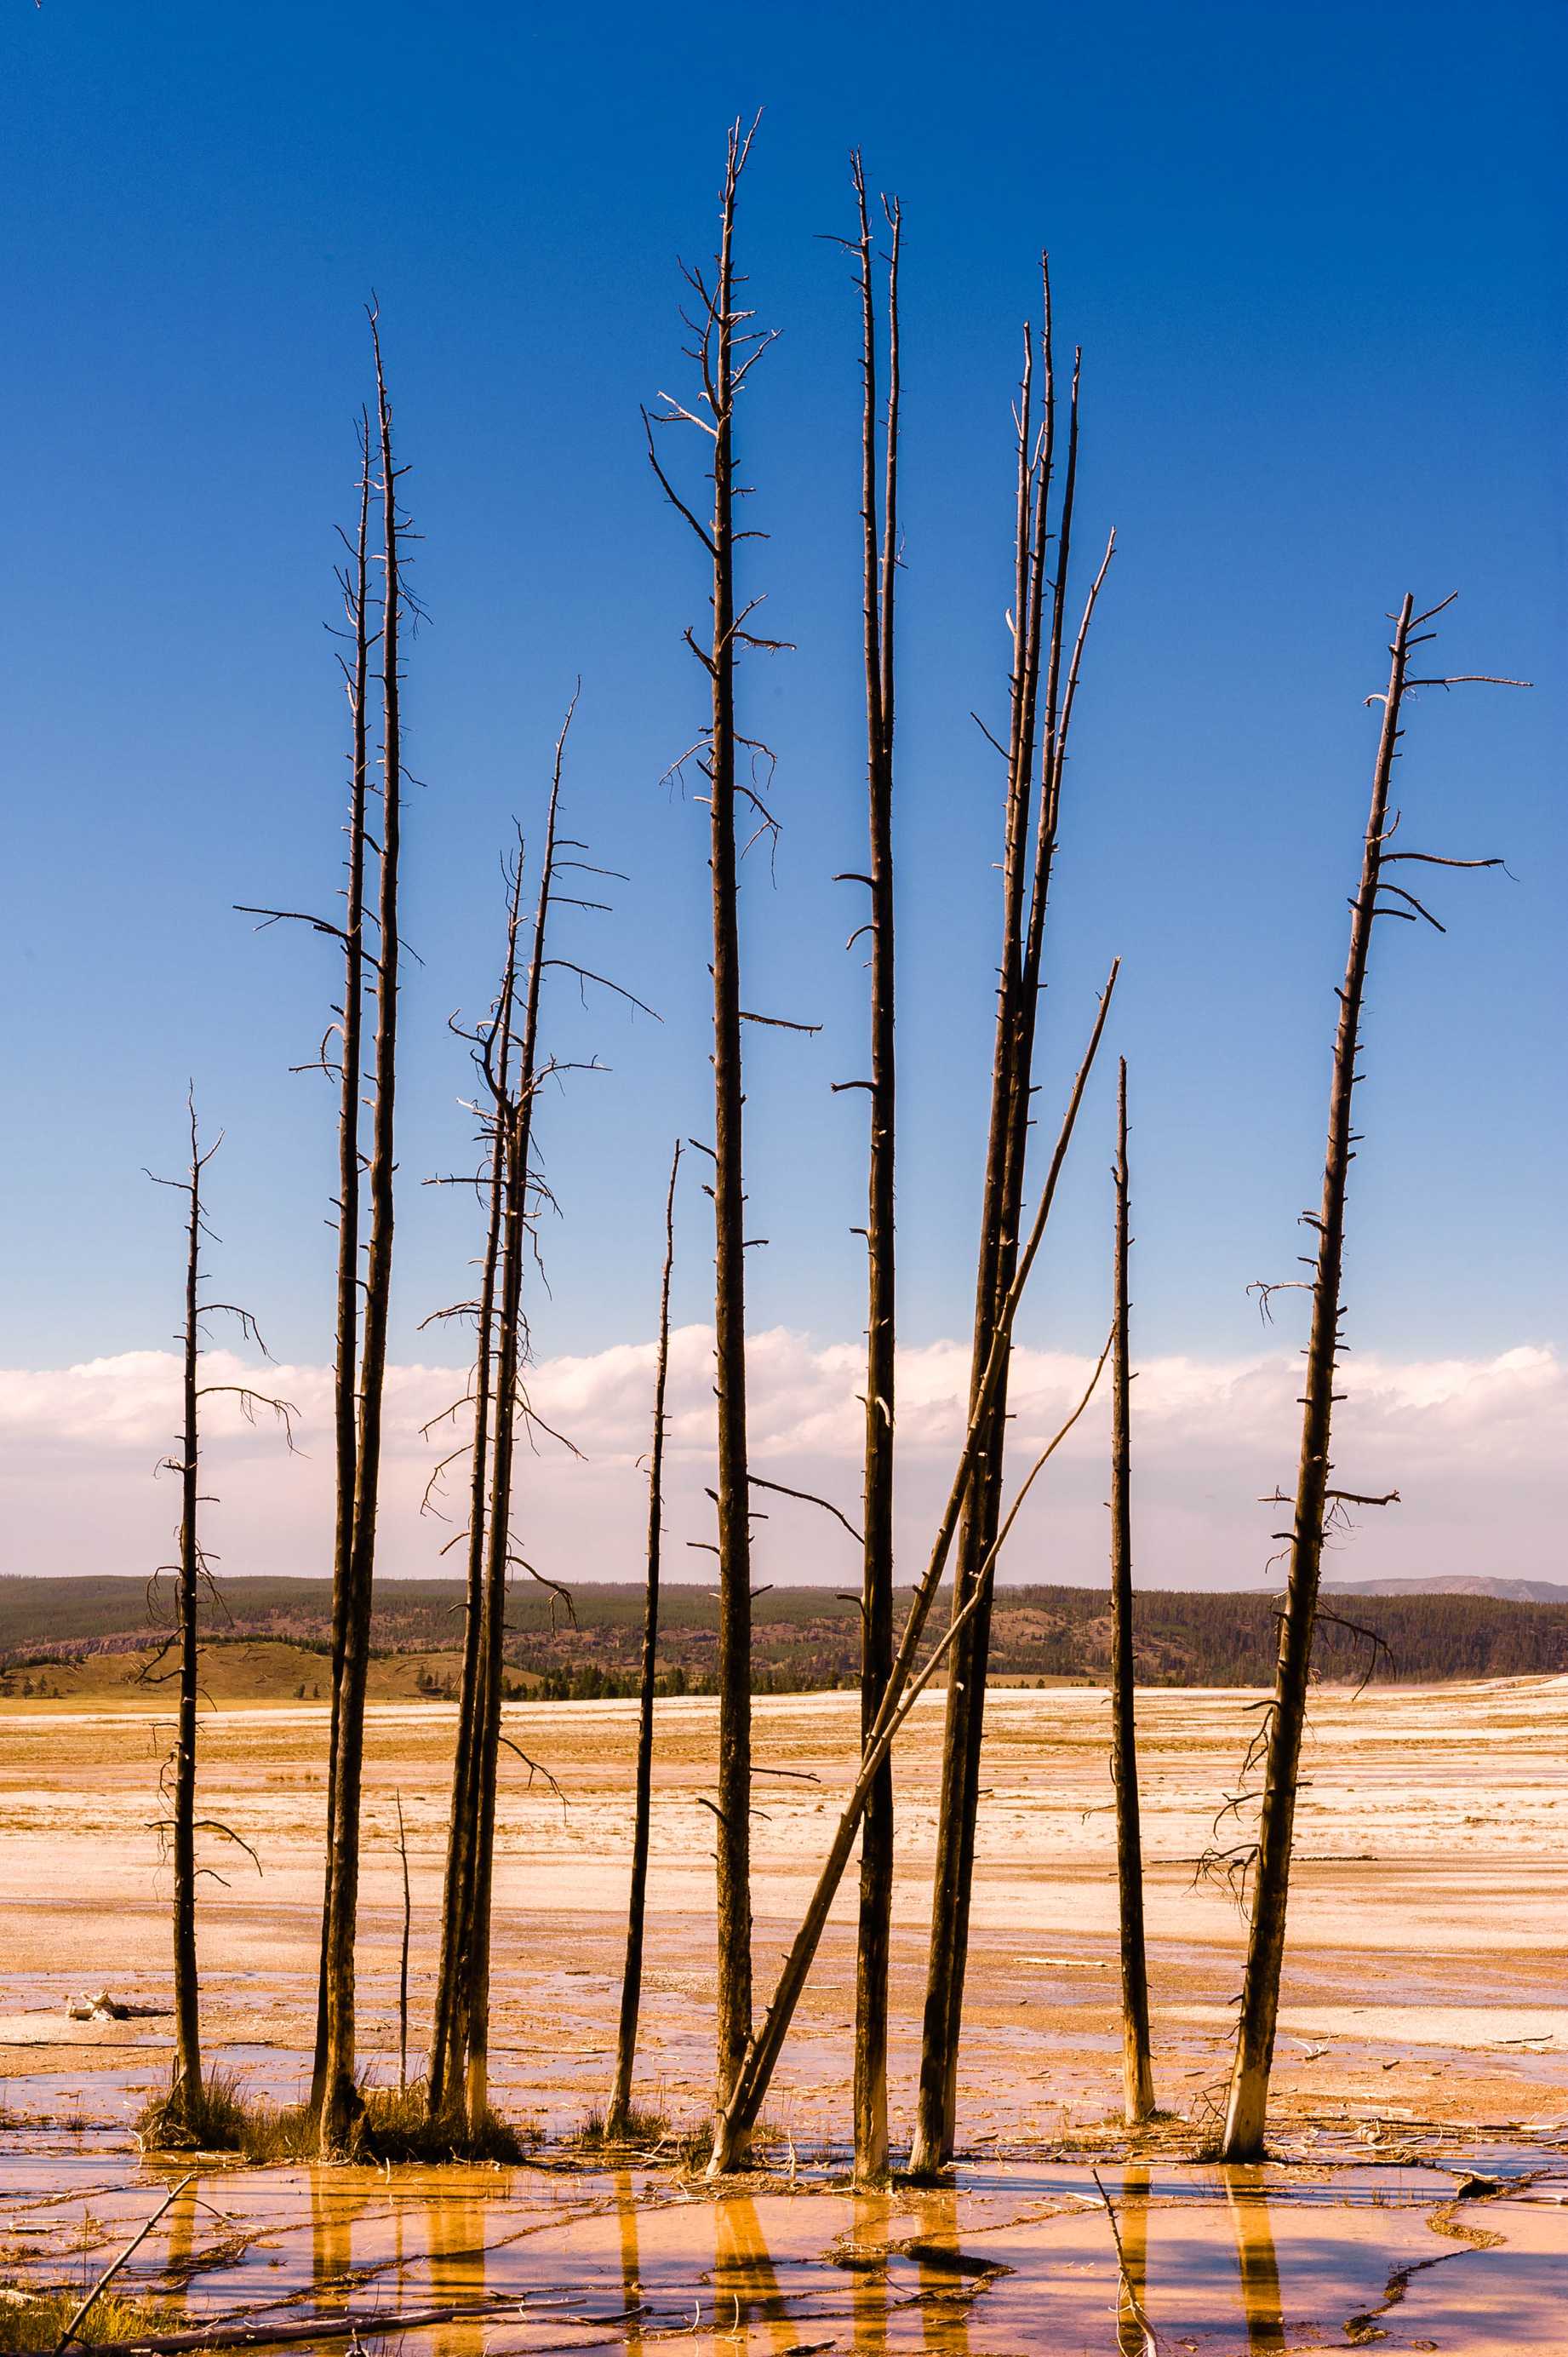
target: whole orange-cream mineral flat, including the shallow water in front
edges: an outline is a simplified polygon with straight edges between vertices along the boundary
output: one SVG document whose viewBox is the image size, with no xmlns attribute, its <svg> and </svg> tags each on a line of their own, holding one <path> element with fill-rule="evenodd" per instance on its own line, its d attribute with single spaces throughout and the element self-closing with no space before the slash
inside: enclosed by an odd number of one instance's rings
<svg viewBox="0 0 1568 2357">
<path fill-rule="evenodd" d="M 769 2098 L 766 2171 L 712 2199 L 665 2147 L 620 2173 L 571 2138 L 604 2100 L 625 1904 L 625 1704 L 535 1706 L 509 1732 L 561 1775 L 502 1796 L 493 2093 L 538 2166 L 391 2173 L 205 2166 L 125 2270 L 191 2326 L 410 2357 L 507 2350 L 1568 2352 L 1568 1681 L 1320 1697 L 1302 1803 L 1266 2171 L 1203 2166 L 1243 1926 L 1193 1860 L 1247 1695 L 1144 1697 L 1155 2081 L 1141 2150 L 1115 2124 L 1118 1975 L 1103 1697 L 997 1695 L 964 2008 L 960 2168 L 946 2190 L 844 2183 L 851 1921 L 835 1916 Z M 854 1697 L 759 1697 L 759 2001 L 825 1843 Z M 938 1709 L 898 1763 L 891 2119 L 915 2084 Z M 696 2124 L 712 2072 L 712 1706 L 660 1714 L 639 2102 Z M 264 1876 L 203 1883 L 210 2062 L 299 2093 L 314 2011 L 325 1718 L 212 1714 L 205 1805 Z M 132 2121 L 167 2072 L 167 1888 L 146 1831 L 141 1714 L 0 1718 L 0 2284 L 90 2284 L 177 2171 Z M 370 1714 L 361 2060 L 396 2077 L 413 1838 L 410 2067 L 429 1999 L 450 1714 Z M 66 2020 L 108 1987 L 146 2015 Z M 1099 2168 L 1103 2194 L 1094 2183 Z M 1488 2183 L 1457 2199 L 1483 2171 Z M 1120 2258 L 1118 2258 L 1120 2244 Z M 429 2310 L 472 2310 L 431 2324 Z M 236 2331 L 243 2326 L 236 2324 Z M 0 2303 L 0 2348 L 7 2315 Z"/>
</svg>

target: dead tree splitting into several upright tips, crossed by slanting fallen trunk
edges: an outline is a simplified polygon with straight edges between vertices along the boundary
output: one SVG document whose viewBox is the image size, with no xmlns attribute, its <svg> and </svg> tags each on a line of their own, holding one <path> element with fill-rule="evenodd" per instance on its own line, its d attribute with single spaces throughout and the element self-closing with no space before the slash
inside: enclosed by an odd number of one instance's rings
<svg viewBox="0 0 1568 2357">
<path fill-rule="evenodd" d="M 1073 700 L 1085 639 L 1111 566 L 1115 533 L 1089 587 L 1078 636 L 1066 653 L 1068 559 L 1078 483 L 1078 358 L 1068 398 L 1068 436 L 1061 495 L 1056 471 L 1056 370 L 1052 346 L 1049 271 L 1042 280 L 1042 332 L 1037 346 L 1040 408 L 1035 412 L 1035 342 L 1023 337 L 1023 379 L 1016 405 L 1014 495 L 1014 596 L 1009 724 L 1002 745 L 1004 856 L 1002 856 L 1002 955 L 997 969 L 997 1023 L 990 1072 L 990 1129 L 981 1195 L 981 1242 L 974 1294 L 974 1346 L 969 1400 L 981 1374 L 1000 1306 L 1007 1299 L 1019 1254 L 1023 1174 L 1033 1105 L 1035 1014 L 1042 988 L 1045 917 L 1061 820 L 1061 783 L 1073 721 Z M 1054 542 L 1054 561 L 1052 561 Z M 953 1582 L 953 1612 L 964 1633 L 953 1645 L 948 1671 L 948 1718 L 936 1824 L 936 1871 L 931 1886 L 931 1954 L 920 2055 L 920 2100 L 910 2168 L 917 2176 L 953 2157 L 957 2102 L 957 2046 L 969 1952 L 969 1890 L 974 1883 L 974 1829 L 981 1789 L 981 1739 L 986 1718 L 986 1664 L 990 1655 L 990 1560 L 1002 1508 L 1002 1450 L 1007 1431 L 1007 1374 L 990 1402 L 981 1435 L 976 1478 L 964 1504 L 964 1527 Z"/>
</svg>

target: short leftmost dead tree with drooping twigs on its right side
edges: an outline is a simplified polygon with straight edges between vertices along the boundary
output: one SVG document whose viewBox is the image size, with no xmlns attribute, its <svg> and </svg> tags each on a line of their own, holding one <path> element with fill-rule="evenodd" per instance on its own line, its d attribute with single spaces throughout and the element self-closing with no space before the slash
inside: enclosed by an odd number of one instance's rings
<svg viewBox="0 0 1568 2357">
<path fill-rule="evenodd" d="M 200 2069 L 200 1973 L 196 1963 L 196 1836 L 219 1834 L 224 1841 L 233 1841 L 259 1871 L 257 1853 L 243 1841 L 231 1827 L 219 1824 L 217 1817 L 196 1815 L 196 1706 L 200 1697 L 198 1688 L 198 1645 L 200 1645 L 200 1593 L 203 1586 L 212 1593 L 212 1558 L 200 1544 L 198 1511 L 203 1504 L 200 1494 L 200 1402 L 215 1395 L 226 1395 L 238 1400 L 241 1412 L 248 1421 L 255 1421 L 257 1407 L 264 1407 L 283 1426 L 283 1438 L 292 1447 L 292 1419 L 297 1409 L 290 1400 L 276 1400 L 248 1384 L 203 1384 L 200 1379 L 200 1348 L 203 1348 L 203 1320 L 217 1315 L 219 1310 L 236 1318 L 241 1334 L 266 1353 L 257 1322 L 250 1310 L 238 1308 L 233 1301 L 207 1301 L 200 1289 L 200 1247 L 212 1237 L 203 1211 L 203 1176 L 207 1162 L 224 1143 L 222 1136 L 207 1146 L 203 1153 L 200 1136 L 196 1127 L 196 1094 L 186 1098 L 186 1113 L 191 1124 L 191 1160 L 186 1164 L 184 1178 L 156 1178 L 156 1186 L 170 1186 L 186 1197 L 186 1256 L 184 1256 L 184 1325 L 179 1329 L 179 1405 L 182 1405 L 182 1428 L 179 1428 L 179 1457 L 165 1457 L 158 1471 L 179 1475 L 179 1560 L 167 1570 L 174 1572 L 174 1633 L 170 1645 L 160 1648 L 153 1662 L 146 1666 L 144 1676 L 156 1681 L 158 1664 L 170 1650 L 177 1650 L 174 1676 L 179 1678 L 179 1721 L 174 1730 L 174 1749 L 170 1763 L 165 1765 L 163 1791 L 170 1803 L 170 1815 L 158 1820 L 158 1836 L 170 1853 L 172 1879 L 174 1879 L 174 2079 L 170 2086 L 167 2105 L 163 2107 L 165 2126 L 179 2128 L 186 2135 L 200 2133 L 203 2126 L 203 2069 Z"/>
</svg>

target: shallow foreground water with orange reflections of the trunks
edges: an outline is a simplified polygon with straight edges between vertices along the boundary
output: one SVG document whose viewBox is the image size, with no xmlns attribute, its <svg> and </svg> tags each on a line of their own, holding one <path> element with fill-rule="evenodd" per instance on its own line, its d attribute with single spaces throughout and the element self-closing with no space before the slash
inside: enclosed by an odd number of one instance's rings
<svg viewBox="0 0 1568 2357">
<path fill-rule="evenodd" d="M 639 2168 L 231 2171 L 196 2187 L 222 2211 L 217 2232 L 212 2211 L 174 2204 L 127 2284 L 170 2298 L 189 2282 L 196 2319 L 255 2305 L 274 2326 L 340 2322 L 344 2308 L 465 2310 L 410 2329 L 406 2357 L 505 2357 L 582 2331 L 582 2345 L 630 2357 L 667 2341 L 693 2357 L 1148 2357 L 1184 2343 L 1283 2357 L 1285 2308 L 1330 2333 L 1365 2315 L 1396 2267 L 1431 2258 L 1431 2220 L 1452 2199 L 1452 2178 L 1429 2171 L 1266 2183 L 1257 2168 L 1151 2164 L 1103 2183 L 1115 2237 L 1092 2173 L 1070 2166 L 964 2168 L 941 2190 L 759 2185 L 717 2201 Z M 17 2260 L 54 2282 L 80 2272 L 85 2209 L 113 2239 L 146 2216 L 141 2185 L 61 2199 L 21 2171 L 7 2183 L 0 2159 L 7 2194 L 21 2204 Z M 1462 2279 L 1443 2277 L 1445 2296 L 1476 2305 L 1467 2350 L 1561 2357 L 1561 2341 L 1485 2338 L 1497 2303 L 1549 2315 L 1568 2256 L 1568 2216 L 1537 2204 L 1528 2237 L 1521 2216 L 1516 2204 L 1500 2218 L 1504 2239 L 1469 2253 Z"/>
</svg>

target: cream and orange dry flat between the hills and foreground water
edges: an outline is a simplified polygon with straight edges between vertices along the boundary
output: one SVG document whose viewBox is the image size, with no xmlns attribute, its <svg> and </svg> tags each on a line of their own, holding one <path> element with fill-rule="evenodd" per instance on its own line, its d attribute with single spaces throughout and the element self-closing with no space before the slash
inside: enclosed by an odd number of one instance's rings
<svg viewBox="0 0 1568 2357">
<path fill-rule="evenodd" d="M 1254 1695 L 1141 1697 L 1144 1838 L 1162 2100 L 1200 2121 L 1224 2077 L 1240 1975 L 1236 1907 L 1193 1888 L 1193 1862 L 1233 1789 Z M 804 1904 L 835 1794 L 849 1775 L 851 1695 L 757 1699 L 759 1996 Z M 634 1706 L 514 1704 L 509 1737 L 564 1798 L 507 1754 L 495 1982 L 502 2100 L 556 2128 L 601 2098 L 620 1968 Z M 941 1739 L 941 1699 L 917 1709 L 898 1780 L 894 2119 L 908 2124 Z M 167 2003 L 167 1879 L 158 1857 L 158 1758 L 149 1709 L 0 1709 L 0 2072 L 130 2110 L 160 2067 L 158 2018 L 66 2025 L 64 1999 L 108 1987 Z M 413 2041 L 429 1985 L 453 1711 L 370 1711 L 363 1883 L 363 2044 L 387 2069 L 401 1881 L 394 1794 L 413 1853 Z M 321 1864 L 325 1709 L 262 1704 L 203 1721 L 203 1813 L 222 1841 L 203 1883 L 207 2039 L 259 2086 L 297 2084 L 309 2044 Z M 672 2114 L 707 2098 L 712 2003 L 714 1704 L 658 1711 L 651 1985 L 644 2079 Z M 766 1770 L 790 1770 L 769 1775 Z M 1318 1695 L 1299 1813 L 1299 1869 L 1280 2025 L 1280 2121 L 1368 2135 L 1568 2121 L 1561 1980 L 1568 1933 L 1568 1681 L 1370 1688 Z M 780 2069 L 773 2112 L 792 2133 L 844 2133 L 851 1897 Z M 995 1690 L 974 1897 L 962 2135 L 1059 2138 L 1115 2105 L 1115 1881 L 1106 1697 Z M 97 2091 L 97 2093 L 94 2093 Z M 14 2091 L 24 2098 L 24 2088 Z M 26 2091 L 31 2100 L 31 2088 Z M 1379 2126 L 1382 2124 L 1382 2126 Z M 1403 2128 L 1401 2128 L 1403 2124 Z"/>
</svg>

